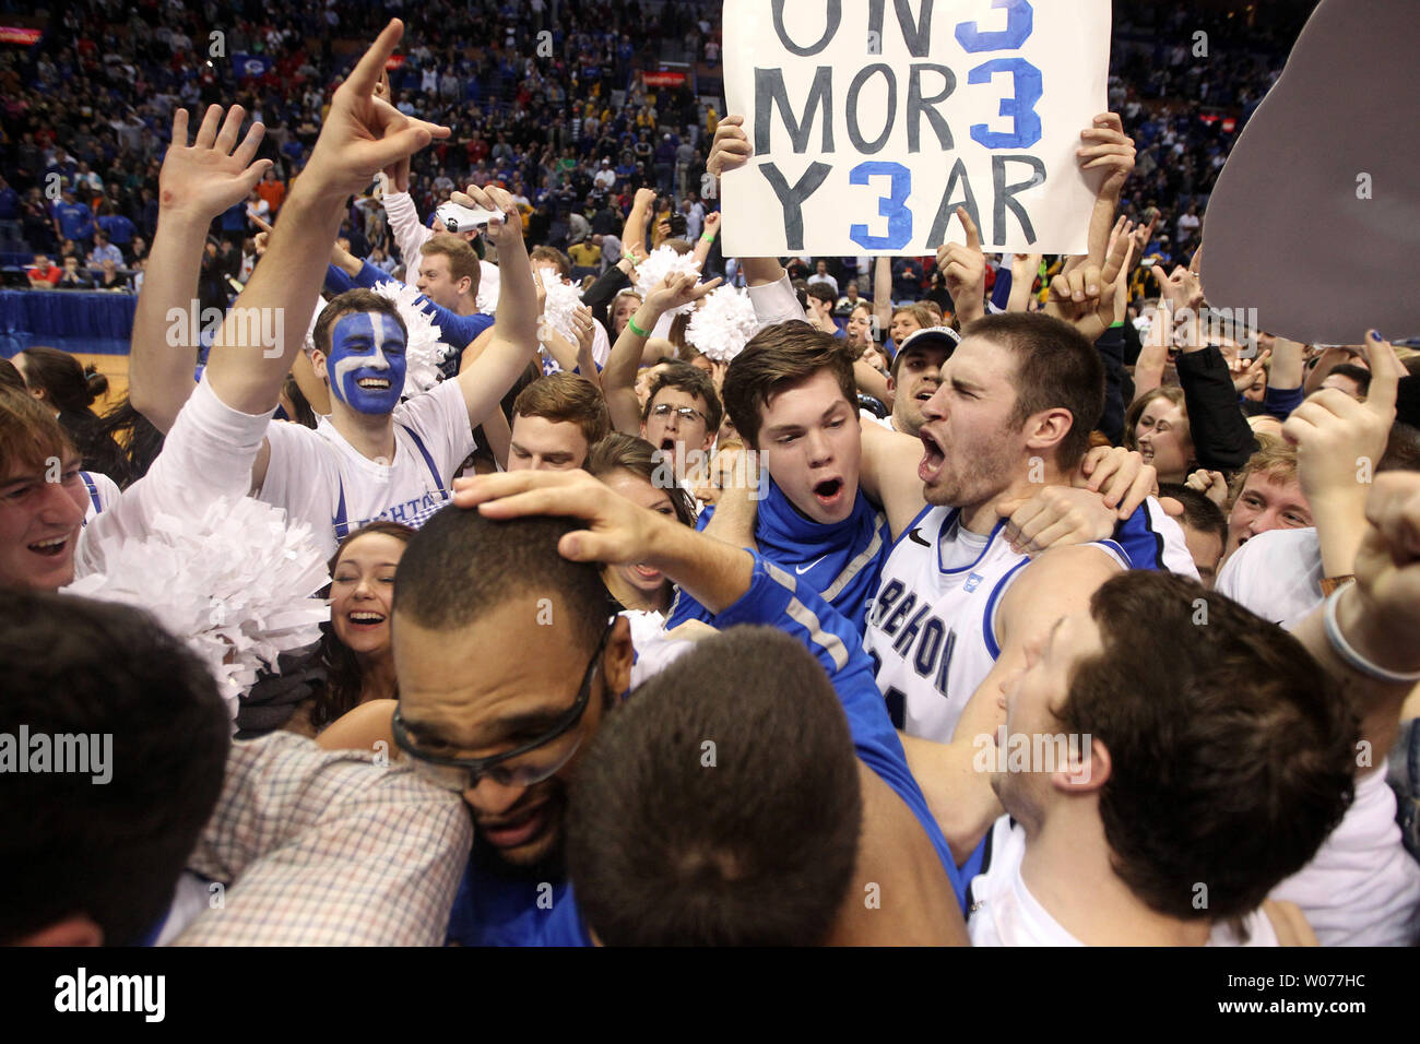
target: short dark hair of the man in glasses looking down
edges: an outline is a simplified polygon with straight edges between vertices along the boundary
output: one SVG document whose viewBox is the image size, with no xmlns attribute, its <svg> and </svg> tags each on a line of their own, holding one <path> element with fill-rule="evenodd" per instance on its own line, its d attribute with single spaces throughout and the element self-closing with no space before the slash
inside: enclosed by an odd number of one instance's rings
<svg viewBox="0 0 1420 1044">
<path fill-rule="evenodd" d="M 591 652 L 606 629 L 611 597 L 595 562 L 572 562 L 557 543 L 582 528 L 558 517 L 494 521 L 479 511 L 446 507 L 415 534 L 395 572 L 395 612 L 417 626 L 454 631 L 513 601 L 561 599 L 571 635 Z M 490 651 L 490 655 L 496 651 Z"/>
</svg>

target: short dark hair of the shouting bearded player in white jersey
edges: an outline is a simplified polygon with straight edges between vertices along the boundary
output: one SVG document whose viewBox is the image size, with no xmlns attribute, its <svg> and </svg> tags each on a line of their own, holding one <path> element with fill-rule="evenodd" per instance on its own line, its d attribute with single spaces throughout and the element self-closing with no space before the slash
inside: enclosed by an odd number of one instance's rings
<svg viewBox="0 0 1420 1044">
<path fill-rule="evenodd" d="M 1089 449 L 1089 433 L 1105 412 L 1105 364 L 1095 345 L 1071 324 L 1039 312 L 984 315 L 961 331 L 1015 355 L 1015 409 L 1021 426 L 1047 409 L 1068 409 L 1069 430 L 1055 447 L 1055 463 L 1074 469 Z"/>
</svg>

